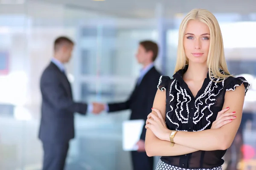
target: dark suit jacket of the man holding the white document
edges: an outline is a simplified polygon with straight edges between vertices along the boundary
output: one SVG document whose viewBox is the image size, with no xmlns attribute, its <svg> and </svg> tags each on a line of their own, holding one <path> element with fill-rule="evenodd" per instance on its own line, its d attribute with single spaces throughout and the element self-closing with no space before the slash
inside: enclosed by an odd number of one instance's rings
<svg viewBox="0 0 256 170">
<path fill-rule="evenodd" d="M 131 109 L 130 119 L 144 119 L 146 121 L 151 112 L 154 97 L 157 92 L 157 85 L 160 73 L 155 67 L 152 67 L 143 77 L 139 85 L 136 85 L 134 91 L 126 102 L 109 103 L 109 112 Z M 146 129 L 143 127 L 140 139 L 145 140 Z"/>
</svg>

